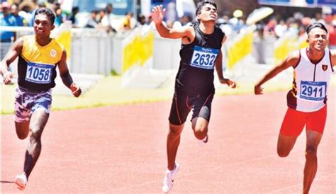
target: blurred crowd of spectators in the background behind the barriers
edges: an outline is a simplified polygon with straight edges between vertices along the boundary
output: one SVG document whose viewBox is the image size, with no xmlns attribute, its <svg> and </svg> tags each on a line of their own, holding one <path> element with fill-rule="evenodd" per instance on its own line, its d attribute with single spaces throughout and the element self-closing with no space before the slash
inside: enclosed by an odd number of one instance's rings
<svg viewBox="0 0 336 194">
<path fill-rule="evenodd" d="M 151 26 L 152 18 L 150 15 L 144 16 L 141 13 L 134 16 L 133 12 L 128 11 L 124 16 L 113 14 L 113 4 L 106 4 L 104 8 L 94 9 L 86 17 L 84 23 L 80 20 L 78 13 L 81 12 L 78 6 L 72 7 L 72 11 L 62 10 L 62 2 L 56 0 L 47 1 L 3 1 L 1 3 L 1 25 L 2 26 L 33 26 L 33 16 L 35 9 L 39 7 L 49 7 L 55 12 L 55 25 L 58 27 L 62 23 L 67 23 L 72 28 L 96 28 L 106 30 L 108 33 L 125 33 L 141 26 Z M 229 37 L 235 35 L 249 27 L 246 20 L 248 13 L 243 13 L 240 9 L 229 13 L 222 11 L 218 13 L 218 27 L 221 28 Z M 166 20 L 169 28 L 180 28 L 190 25 L 194 21 L 194 14 L 186 14 L 177 18 L 175 21 Z M 330 48 L 336 48 L 336 15 L 315 13 L 315 16 L 305 16 L 303 13 L 296 12 L 292 16 L 281 16 L 271 14 L 261 21 L 255 23 L 255 34 L 262 39 L 265 36 L 281 38 L 286 32 L 293 32 L 298 37 L 305 36 L 306 27 L 313 22 L 324 23 L 329 30 Z M 80 24 L 79 24 L 80 23 Z M 15 38 L 13 32 L 1 30 L 1 42 L 11 42 Z"/>
</svg>

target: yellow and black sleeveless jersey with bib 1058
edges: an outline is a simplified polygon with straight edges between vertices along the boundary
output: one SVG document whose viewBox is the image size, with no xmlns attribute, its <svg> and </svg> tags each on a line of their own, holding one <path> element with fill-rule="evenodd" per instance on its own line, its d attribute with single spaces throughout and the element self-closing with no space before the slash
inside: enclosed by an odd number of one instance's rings
<svg viewBox="0 0 336 194">
<path fill-rule="evenodd" d="M 23 48 L 18 57 L 18 86 L 32 91 L 46 91 L 55 87 L 56 66 L 64 47 L 52 39 L 45 46 L 38 45 L 35 35 L 23 37 Z"/>
</svg>

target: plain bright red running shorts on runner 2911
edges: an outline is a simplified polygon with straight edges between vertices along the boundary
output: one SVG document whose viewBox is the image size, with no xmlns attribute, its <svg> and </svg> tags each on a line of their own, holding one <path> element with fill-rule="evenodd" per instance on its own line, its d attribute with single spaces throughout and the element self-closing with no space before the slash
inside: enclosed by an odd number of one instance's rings
<svg viewBox="0 0 336 194">
<path fill-rule="evenodd" d="M 281 125 L 280 134 L 297 137 L 301 134 L 303 127 L 306 125 L 306 130 L 313 130 L 323 135 L 326 118 L 327 105 L 320 110 L 310 113 L 288 108 Z"/>
</svg>

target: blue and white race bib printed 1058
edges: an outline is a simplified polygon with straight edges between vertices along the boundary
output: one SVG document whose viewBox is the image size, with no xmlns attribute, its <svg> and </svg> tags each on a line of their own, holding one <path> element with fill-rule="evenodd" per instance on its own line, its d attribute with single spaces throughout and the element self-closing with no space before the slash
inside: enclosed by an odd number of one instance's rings
<svg viewBox="0 0 336 194">
<path fill-rule="evenodd" d="M 27 63 L 26 81 L 35 84 L 50 84 L 53 64 Z"/>
</svg>

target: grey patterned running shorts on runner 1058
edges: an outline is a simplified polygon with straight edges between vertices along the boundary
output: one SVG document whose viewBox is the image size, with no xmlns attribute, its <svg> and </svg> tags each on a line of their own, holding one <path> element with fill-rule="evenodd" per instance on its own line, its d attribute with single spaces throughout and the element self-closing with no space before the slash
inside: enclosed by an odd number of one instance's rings
<svg viewBox="0 0 336 194">
<path fill-rule="evenodd" d="M 15 96 L 15 121 L 25 122 L 30 120 L 30 115 L 38 108 L 50 113 L 51 89 L 47 91 L 30 91 L 21 87 L 16 88 Z"/>
</svg>

